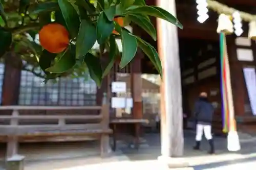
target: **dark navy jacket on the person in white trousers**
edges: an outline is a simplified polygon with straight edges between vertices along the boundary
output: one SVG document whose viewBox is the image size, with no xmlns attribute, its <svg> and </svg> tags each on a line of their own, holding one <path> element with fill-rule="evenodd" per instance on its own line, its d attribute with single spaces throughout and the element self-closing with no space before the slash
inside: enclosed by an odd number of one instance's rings
<svg viewBox="0 0 256 170">
<path fill-rule="evenodd" d="M 208 102 L 207 98 L 200 97 L 194 108 L 194 116 L 197 123 L 211 124 L 213 115 L 214 107 Z"/>
</svg>

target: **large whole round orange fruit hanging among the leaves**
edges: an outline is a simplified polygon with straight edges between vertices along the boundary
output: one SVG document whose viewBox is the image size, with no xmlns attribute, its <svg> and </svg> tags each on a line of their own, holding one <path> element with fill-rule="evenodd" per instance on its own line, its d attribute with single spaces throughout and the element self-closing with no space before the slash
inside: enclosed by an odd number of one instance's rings
<svg viewBox="0 0 256 170">
<path fill-rule="evenodd" d="M 68 30 L 59 23 L 49 23 L 39 31 L 39 42 L 50 53 L 63 52 L 69 41 Z"/>
</svg>

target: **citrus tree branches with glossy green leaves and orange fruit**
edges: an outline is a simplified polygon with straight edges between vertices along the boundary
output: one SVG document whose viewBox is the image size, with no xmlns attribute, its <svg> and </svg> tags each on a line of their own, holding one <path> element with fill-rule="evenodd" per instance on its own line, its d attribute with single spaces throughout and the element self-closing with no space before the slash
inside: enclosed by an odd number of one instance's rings
<svg viewBox="0 0 256 170">
<path fill-rule="evenodd" d="M 150 16 L 182 29 L 172 14 L 147 6 L 144 0 L 0 0 L 0 56 L 6 58 L 8 52 L 15 52 L 25 61 L 22 68 L 39 67 L 46 80 L 74 72 L 82 76 L 88 70 L 100 86 L 115 60 L 120 58 L 119 66 L 123 68 L 140 48 L 162 76 L 155 48 L 125 28 L 133 22 L 156 40 Z M 118 38 L 121 54 L 115 41 Z M 100 46 L 99 55 L 92 50 L 95 43 Z M 108 64 L 103 67 L 100 58 L 105 52 Z"/>
</svg>

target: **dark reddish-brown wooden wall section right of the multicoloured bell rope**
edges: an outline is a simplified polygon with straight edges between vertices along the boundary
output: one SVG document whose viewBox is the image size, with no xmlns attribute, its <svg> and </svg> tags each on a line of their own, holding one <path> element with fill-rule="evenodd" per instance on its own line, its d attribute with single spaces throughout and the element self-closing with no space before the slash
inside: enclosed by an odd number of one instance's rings
<svg viewBox="0 0 256 170">
<path fill-rule="evenodd" d="M 256 116 L 252 114 L 243 68 L 256 67 L 256 44 L 247 37 L 227 37 L 230 58 L 231 84 L 234 111 L 238 129 L 247 133 L 256 132 Z"/>
</svg>

